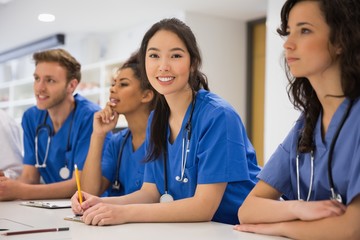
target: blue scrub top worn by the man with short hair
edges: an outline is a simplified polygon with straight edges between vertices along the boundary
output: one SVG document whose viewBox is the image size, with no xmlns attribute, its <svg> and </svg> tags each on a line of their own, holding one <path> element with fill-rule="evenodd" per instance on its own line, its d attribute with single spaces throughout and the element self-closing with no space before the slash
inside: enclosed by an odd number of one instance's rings
<svg viewBox="0 0 360 240">
<path fill-rule="evenodd" d="M 45 183 L 55 183 L 72 178 L 74 164 L 77 164 L 79 170 L 83 168 L 92 133 L 93 116 L 100 107 L 84 97 L 76 94 L 75 112 L 69 114 L 59 131 L 51 136 L 49 155 L 46 161 L 46 168 L 38 168 L 38 171 Z M 22 127 L 24 130 L 24 164 L 35 165 L 35 135 L 36 128 L 44 123 L 45 110 L 39 110 L 36 106 L 25 111 L 22 118 Z M 72 127 L 70 129 L 70 125 Z M 53 124 L 50 117 L 46 118 L 46 124 L 53 131 Z M 44 129 L 44 128 L 42 128 Z M 68 137 L 70 136 L 69 148 Z M 107 140 L 110 135 L 107 136 Z M 38 136 L 38 156 L 39 164 L 43 164 L 48 133 L 45 130 L 40 131 Z M 106 141 L 107 141 L 106 140 Z M 63 179 L 59 172 L 60 169 L 67 166 L 70 170 L 69 178 Z"/>
</svg>

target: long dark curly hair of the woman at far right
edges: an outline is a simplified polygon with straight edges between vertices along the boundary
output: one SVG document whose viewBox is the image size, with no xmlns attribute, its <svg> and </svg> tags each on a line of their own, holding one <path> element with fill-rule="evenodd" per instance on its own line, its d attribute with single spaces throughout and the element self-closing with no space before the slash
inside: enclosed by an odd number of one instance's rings
<svg viewBox="0 0 360 240">
<path fill-rule="evenodd" d="M 360 4 L 359 0 L 287 0 L 281 10 L 280 36 L 287 35 L 289 13 L 298 2 L 316 1 L 330 28 L 329 46 L 337 46 L 343 96 L 355 99 L 360 95 Z M 285 60 L 285 59 L 284 59 Z M 313 132 L 321 111 L 320 101 L 305 77 L 293 77 L 285 60 L 289 80 L 287 93 L 295 109 L 303 112 L 305 125 L 299 142 L 300 152 L 314 150 Z"/>
</svg>

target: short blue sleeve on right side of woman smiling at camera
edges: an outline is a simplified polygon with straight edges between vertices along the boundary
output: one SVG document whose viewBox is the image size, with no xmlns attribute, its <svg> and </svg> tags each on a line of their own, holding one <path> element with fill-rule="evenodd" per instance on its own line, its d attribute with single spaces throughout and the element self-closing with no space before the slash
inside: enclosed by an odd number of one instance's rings
<svg viewBox="0 0 360 240">
<path fill-rule="evenodd" d="M 216 108 L 206 114 L 209 121 L 200 117 L 207 125 L 198 142 L 198 184 L 248 180 L 246 148 L 252 146 L 239 116 L 232 110 Z"/>
</svg>

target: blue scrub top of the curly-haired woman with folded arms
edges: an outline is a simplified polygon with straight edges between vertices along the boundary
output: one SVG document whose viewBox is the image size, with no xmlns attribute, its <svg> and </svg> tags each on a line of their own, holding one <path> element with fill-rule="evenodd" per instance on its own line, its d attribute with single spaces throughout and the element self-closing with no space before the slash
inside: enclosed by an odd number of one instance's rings
<svg viewBox="0 0 360 240">
<path fill-rule="evenodd" d="M 327 200 L 331 196 L 328 180 L 328 155 L 331 141 L 349 105 L 345 99 L 331 119 L 324 140 L 321 136 L 321 114 L 314 131 L 314 182 L 310 200 Z M 344 204 L 349 204 L 360 193 L 360 103 L 357 99 L 340 131 L 333 151 L 332 174 L 335 190 Z M 301 116 L 284 142 L 276 149 L 259 174 L 259 178 L 283 193 L 290 200 L 297 200 L 296 150 L 299 132 L 303 128 Z M 310 154 L 300 154 L 301 198 L 306 199 L 310 184 Z"/>
</svg>

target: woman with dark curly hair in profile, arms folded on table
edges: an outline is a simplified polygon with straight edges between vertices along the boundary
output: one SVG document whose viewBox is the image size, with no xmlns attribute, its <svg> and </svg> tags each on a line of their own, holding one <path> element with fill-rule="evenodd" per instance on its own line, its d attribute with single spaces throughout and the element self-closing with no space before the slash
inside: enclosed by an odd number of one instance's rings
<svg viewBox="0 0 360 240">
<path fill-rule="evenodd" d="M 360 4 L 288 0 L 281 21 L 288 95 L 302 114 L 258 175 L 235 229 L 360 239 Z"/>
</svg>

